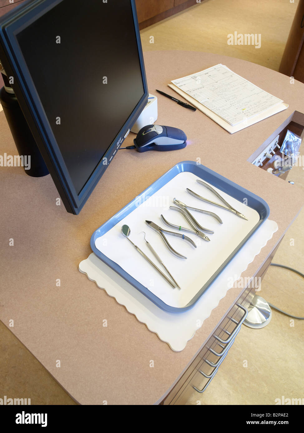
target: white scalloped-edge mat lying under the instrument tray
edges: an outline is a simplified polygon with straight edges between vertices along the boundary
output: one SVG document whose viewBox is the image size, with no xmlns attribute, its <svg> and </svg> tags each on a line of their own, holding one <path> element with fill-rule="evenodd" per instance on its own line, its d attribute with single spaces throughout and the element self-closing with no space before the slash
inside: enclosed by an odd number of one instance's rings
<svg viewBox="0 0 304 433">
<path fill-rule="evenodd" d="M 105 289 L 118 304 L 124 305 L 129 313 L 134 314 L 137 320 L 145 323 L 147 328 L 156 333 L 162 341 L 168 343 L 172 350 L 180 352 L 277 230 L 278 225 L 275 221 L 265 221 L 216 280 L 210 284 L 194 307 L 184 313 L 169 313 L 161 310 L 98 259 L 94 253 L 79 263 L 79 271 L 86 274 L 90 280 L 95 281 L 99 288 Z"/>
</svg>

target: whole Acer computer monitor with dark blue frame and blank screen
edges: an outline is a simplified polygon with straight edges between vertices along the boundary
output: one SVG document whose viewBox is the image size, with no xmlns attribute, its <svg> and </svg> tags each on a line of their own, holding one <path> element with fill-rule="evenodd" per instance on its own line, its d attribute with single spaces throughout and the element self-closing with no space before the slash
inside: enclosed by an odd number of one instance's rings
<svg viewBox="0 0 304 433">
<path fill-rule="evenodd" d="M 78 214 L 147 103 L 134 0 L 33 0 L 0 61 L 66 210 Z"/>
</svg>

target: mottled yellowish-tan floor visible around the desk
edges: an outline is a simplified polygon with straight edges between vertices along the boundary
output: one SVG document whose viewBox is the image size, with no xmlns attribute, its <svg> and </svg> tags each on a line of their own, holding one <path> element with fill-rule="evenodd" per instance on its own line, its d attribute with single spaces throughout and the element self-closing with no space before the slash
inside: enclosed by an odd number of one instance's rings
<svg viewBox="0 0 304 433">
<path fill-rule="evenodd" d="M 278 70 L 298 0 L 205 0 L 141 32 L 144 51 L 183 49 L 239 57 Z M 227 35 L 260 33 L 262 45 L 230 46 Z M 150 44 L 154 36 L 154 44 Z M 303 147 L 303 146 L 302 146 Z M 302 153 L 304 149 L 302 149 Z M 304 188 L 304 171 L 293 168 L 289 180 Z M 284 197 L 282 197 L 284 206 Z M 304 272 L 304 212 L 288 230 L 275 262 Z M 293 241 L 294 239 L 294 245 Z M 304 316 L 304 281 L 271 267 L 259 292 L 272 304 Z M 242 330 L 212 384 L 188 404 L 274 404 L 276 398 L 304 397 L 301 347 L 304 323 L 276 311 L 262 330 Z M 248 367 L 243 367 L 243 361 Z M 75 404 L 29 351 L 0 322 L 0 395 L 30 397 L 32 404 Z"/>
</svg>

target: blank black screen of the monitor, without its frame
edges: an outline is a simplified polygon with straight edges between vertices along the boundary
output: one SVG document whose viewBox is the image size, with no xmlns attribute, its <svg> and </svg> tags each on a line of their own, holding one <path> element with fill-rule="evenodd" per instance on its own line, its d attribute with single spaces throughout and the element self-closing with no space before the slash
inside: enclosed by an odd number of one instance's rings
<svg viewBox="0 0 304 433">
<path fill-rule="evenodd" d="M 17 34 L 77 194 L 144 95 L 130 0 L 64 0 Z"/>
</svg>

